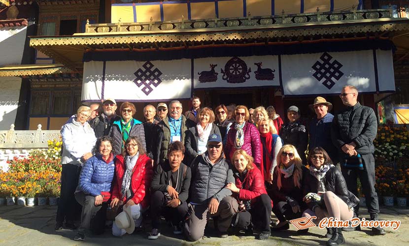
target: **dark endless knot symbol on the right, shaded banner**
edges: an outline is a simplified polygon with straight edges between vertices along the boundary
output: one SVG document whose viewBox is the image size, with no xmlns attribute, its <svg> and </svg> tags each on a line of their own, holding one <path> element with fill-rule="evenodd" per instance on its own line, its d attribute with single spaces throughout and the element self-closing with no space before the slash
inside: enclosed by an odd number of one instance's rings
<svg viewBox="0 0 409 246">
<path fill-rule="evenodd" d="M 316 78 L 318 81 L 324 79 L 322 84 L 328 89 L 331 89 L 335 85 L 333 79 L 337 81 L 341 79 L 343 72 L 341 72 L 340 68 L 343 65 L 337 60 L 331 62 L 332 56 L 330 56 L 327 52 L 324 52 L 320 59 L 322 62 L 317 61 L 312 66 L 312 69 L 315 70 L 315 73 L 312 74 L 312 76 L 314 76 L 314 78 Z"/>
</svg>

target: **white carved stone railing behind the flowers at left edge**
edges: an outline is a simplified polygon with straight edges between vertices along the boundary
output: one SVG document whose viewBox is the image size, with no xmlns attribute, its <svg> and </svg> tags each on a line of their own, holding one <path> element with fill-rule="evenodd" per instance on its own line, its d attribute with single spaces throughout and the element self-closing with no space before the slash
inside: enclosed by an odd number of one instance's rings
<svg viewBox="0 0 409 246">
<path fill-rule="evenodd" d="M 0 169 L 8 169 L 7 160 L 27 157 L 33 149 L 47 149 L 48 140 L 60 138 L 59 130 L 41 130 L 41 124 L 37 130 L 18 131 L 11 124 L 10 130 L 0 131 Z"/>
</svg>

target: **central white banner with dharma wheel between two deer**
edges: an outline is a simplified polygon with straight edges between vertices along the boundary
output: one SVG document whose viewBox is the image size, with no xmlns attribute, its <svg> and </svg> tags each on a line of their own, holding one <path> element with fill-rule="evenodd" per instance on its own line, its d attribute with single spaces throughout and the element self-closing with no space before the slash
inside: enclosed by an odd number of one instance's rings
<svg viewBox="0 0 409 246">
<path fill-rule="evenodd" d="M 194 60 L 195 89 L 279 85 L 278 56 L 209 57 Z"/>
</svg>

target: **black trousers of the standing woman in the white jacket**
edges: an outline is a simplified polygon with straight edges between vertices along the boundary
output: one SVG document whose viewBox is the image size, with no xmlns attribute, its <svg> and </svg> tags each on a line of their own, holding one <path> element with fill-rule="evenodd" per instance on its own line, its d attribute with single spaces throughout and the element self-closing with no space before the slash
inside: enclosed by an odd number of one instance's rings
<svg viewBox="0 0 409 246">
<path fill-rule="evenodd" d="M 74 198 L 75 189 L 78 186 L 81 167 L 72 164 L 63 164 L 61 171 L 61 191 L 57 207 L 57 223 L 72 223 L 81 212 L 81 206 Z"/>
</svg>

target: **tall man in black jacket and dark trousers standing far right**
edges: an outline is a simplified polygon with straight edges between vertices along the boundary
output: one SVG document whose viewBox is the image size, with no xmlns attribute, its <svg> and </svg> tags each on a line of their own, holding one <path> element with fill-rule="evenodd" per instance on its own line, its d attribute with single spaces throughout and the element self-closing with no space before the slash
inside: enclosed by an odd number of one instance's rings
<svg viewBox="0 0 409 246">
<path fill-rule="evenodd" d="M 342 174 L 348 190 L 352 191 L 356 196 L 358 196 L 357 178 L 359 177 L 371 220 L 377 220 L 379 205 L 375 191 L 375 148 L 373 143 L 377 132 L 375 112 L 372 108 L 362 106 L 358 102 L 358 90 L 354 86 L 344 86 L 340 97 L 347 108 L 334 117 L 331 129 L 332 141 L 340 151 L 340 156 L 343 156 L 343 159 L 349 161 L 357 154 L 361 155 L 363 170 L 342 167 Z M 358 216 L 359 205 L 354 210 Z M 373 227 L 372 232 L 374 235 L 386 233 L 380 227 Z"/>
</svg>

